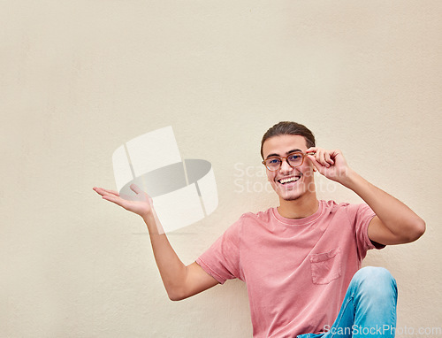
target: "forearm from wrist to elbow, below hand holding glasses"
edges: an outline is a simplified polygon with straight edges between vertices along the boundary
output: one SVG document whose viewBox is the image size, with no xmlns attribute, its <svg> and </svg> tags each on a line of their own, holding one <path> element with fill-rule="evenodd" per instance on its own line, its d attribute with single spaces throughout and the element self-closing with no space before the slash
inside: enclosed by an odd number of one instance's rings
<svg viewBox="0 0 442 338">
<path fill-rule="evenodd" d="M 349 169 L 347 179 L 342 184 L 362 197 L 384 226 L 404 242 L 415 241 L 423 234 L 425 230 L 423 219 L 407 205 L 366 181 L 358 173 Z"/>
</svg>

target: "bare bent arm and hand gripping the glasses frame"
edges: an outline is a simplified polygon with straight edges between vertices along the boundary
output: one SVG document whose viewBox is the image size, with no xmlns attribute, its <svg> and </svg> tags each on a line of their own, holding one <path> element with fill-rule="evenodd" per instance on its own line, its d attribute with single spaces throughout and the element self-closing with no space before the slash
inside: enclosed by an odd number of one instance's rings
<svg viewBox="0 0 442 338">
<path fill-rule="evenodd" d="M 376 213 L 369 225 L 369 237 L 380 244 L 413 242 L 425 232 L 425 222 L 407 205 L 364 180 L 348 165 L 340 150 L 307 150 L 319 173 L 352 189 Z"/>
</svg>

